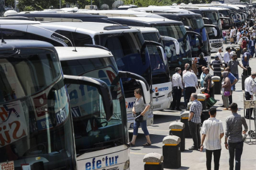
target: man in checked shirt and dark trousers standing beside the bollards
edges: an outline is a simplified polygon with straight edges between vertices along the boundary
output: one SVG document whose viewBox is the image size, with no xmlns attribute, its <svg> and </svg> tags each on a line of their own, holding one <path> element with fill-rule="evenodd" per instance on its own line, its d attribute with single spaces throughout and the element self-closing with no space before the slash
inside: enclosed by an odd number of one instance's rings
<svg viewBox="0 0 256 170">
<path fill-rule="evenodd" d="M 190 106 L 189 113 L 189 130 L 192 135 L 194 145 L 189 150 L 198 150 L 201 144 L 200 127 L 201 127 L 201 114 L 202 103 L 197 100 L 197 94 L 192 93 L 190 96 L 192 105 Z"/>
</svg>

